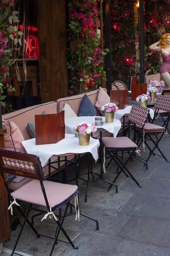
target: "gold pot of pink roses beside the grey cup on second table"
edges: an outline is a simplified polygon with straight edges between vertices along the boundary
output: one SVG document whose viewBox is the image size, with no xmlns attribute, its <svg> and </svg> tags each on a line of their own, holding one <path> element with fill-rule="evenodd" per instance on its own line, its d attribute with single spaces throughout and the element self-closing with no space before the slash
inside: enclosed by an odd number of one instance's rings
<svg viewBox="0 0 170 256">
<path fill-rule="evenodd" d="M 102 106 L 101 111 L 105 113 L 105 120 L 107 123 L 112 123 L 114 119 L 114 113 L 118 111 L 118 107 L 114 103 L 107 103 Z"/>
</svg>

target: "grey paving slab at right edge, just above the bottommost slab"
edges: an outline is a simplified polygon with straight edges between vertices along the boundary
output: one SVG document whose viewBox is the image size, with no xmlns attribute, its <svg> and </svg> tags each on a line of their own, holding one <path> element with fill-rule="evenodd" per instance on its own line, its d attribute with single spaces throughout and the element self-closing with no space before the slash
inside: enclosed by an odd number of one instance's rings
<svg viewBox="0 0 170 256">
<path fill-rule="evenodd" d="M 170 248 L 170 219 L 132 215 L 116 236 Z"/>
</svg>

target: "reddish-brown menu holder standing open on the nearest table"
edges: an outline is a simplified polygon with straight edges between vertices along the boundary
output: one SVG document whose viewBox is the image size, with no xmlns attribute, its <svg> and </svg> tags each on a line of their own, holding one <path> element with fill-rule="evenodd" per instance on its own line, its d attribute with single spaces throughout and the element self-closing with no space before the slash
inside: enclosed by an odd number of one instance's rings
<svg viewBox="0 0 170 256">
<path fill-rule="evenodd" d="M 35 144 L 54 144 L 65 138 L 64 111 L 35 115 Z"/>
</svg>

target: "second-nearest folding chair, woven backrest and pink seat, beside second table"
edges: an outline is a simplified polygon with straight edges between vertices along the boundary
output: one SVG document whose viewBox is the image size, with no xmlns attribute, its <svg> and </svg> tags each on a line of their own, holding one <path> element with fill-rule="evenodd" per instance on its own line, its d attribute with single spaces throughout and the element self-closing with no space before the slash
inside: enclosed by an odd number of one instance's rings
<svg viewBox="0 0 170 256">
<path fill-rule="evenodd" d="M 141 113 L 141 110 L 143 110 L 143 113 Z M 143 127 L 146 122 L 148 114 L 149 114 L 149 109 L 140 107 L 139 105 L 132 105 L 132 108 L 128 117 L 129 125 L 131 120 L 133 123 L 138 123 Z M 136 157 L 135 153 L 139 153 L 139 151 L 137 150 L 138 146 L 136 145 L 136 143 L 134 143 L 128 137 L 116 137 L 116 138 L 103 137 L 102 141 L 103 141 L 104 151 L 106 150 L 110 156 L 106 158 L 106 159 L 110 158 L 106 167 L 105 167 L 105 160 L 104 160 L 104 168 L 107 169 L 112 160 L 120 168 L 120 170 L 118 170 L 118 173 L 112 183 L 115 183 L 117 178 L 121 174 L 121 172 L 123 172 L 126 175 L 126 177 L 130 177 L 133 181 L 135 181 L 135 183 L 139 187 L 141 187 L 140 184 L 137 182 L 137 180 L 133 177 L 133 175 L 130 173 L 130 171 L 126 167 L 129 160 L 132 157 Z M 127 160 L 125 161 L 125 163 L 122 162 L 122 160 L 125 157 L 120 157 L 118 154 L 119 152 L 122 152 L 122 155 L 124 152 L 128 153 L 128 157 L 126 157 Z M 111 189 L 112 186 L 113 185 L 109 187 L 108 191 Z"/>
</svg>

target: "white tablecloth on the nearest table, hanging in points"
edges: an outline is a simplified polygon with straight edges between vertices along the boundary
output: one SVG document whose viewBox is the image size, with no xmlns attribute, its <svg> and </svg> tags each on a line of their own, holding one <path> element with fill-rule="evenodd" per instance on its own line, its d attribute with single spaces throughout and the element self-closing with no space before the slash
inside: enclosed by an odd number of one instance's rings
<svg viewBox="0 0 170 256">
<path fill-rule="evenodd" d="M 79 139 L 74 134 L 65 134 L 65 139 L 55 144 L 35 145 L 35 139 L 25 140 L 22 142 L 27 153 L 35 154 L 40 157 L 42 166 L 52 155 L 61 155 L 67 153 L 82 154 L 90 152 L 94 160 L 98 159 L 99 140 L 90 138 L 88 146 L 80 146 Z"/>
</svg>

